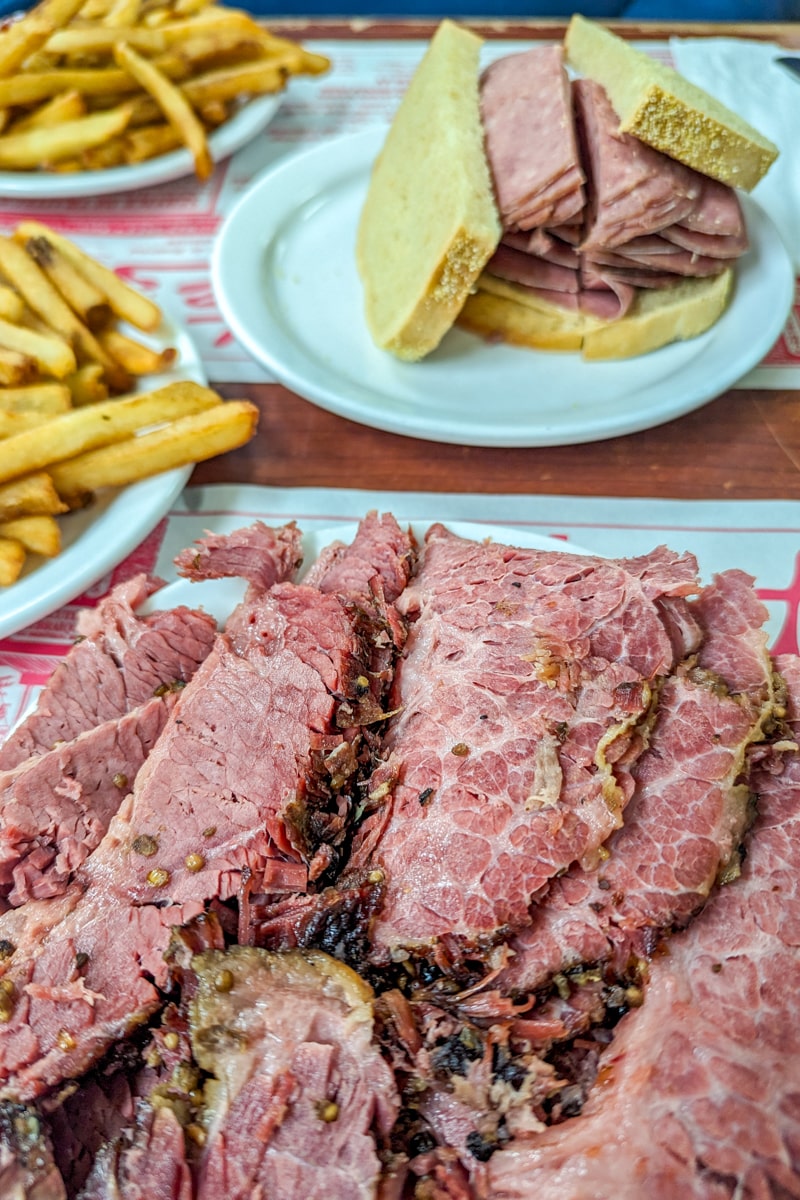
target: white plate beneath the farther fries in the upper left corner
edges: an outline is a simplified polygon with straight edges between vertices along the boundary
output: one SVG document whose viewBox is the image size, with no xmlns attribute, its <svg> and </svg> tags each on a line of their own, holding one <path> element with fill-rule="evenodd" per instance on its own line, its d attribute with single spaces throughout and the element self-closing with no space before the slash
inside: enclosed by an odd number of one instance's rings
<svg viewBox="0 0 800 1200">
<path fill-rule="evenodd" d="M 282 94 L 255 96 L 235 113 L 229 121 L 209 136 L 209 148 L 215 162 L 222 162 L 235 150 L 260 133 L 277 113 Z M 20 196 L 28 199 L 64 199 L 73 196 L 107 196 L 110 192 L 131 192 L 154 184 L 167 184 L 194 172 L 188 150 L 172 150 L 157 158 L 131 167 L 109 167 L 108 170 L 84 170 L 70 174 L 49 172 L 0 170 L 0 196 Z"/>
</svg>

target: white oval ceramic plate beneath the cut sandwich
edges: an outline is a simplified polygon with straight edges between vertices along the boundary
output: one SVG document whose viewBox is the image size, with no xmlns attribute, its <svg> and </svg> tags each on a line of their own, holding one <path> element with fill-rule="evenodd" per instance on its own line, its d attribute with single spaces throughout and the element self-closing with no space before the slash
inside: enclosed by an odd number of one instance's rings
<svg viewBox="0 0 800 1200">
<path fill-rule="evenodd" d="M 566 445 L 633 433 L 718 396 L 766 354 L 794 272 L 769 217 L 742 198 L 752 247 L 734 299 L 690 342 L 625 362 L 491 346 L 453 329 L 422 362 L 377 349 L 362 316 L 355 233 L 385 131 L 324 142 L 261 174 L 217 239 L 217 301 L 277 379 L 341 416 L 464 445 Z"/>
</svg>

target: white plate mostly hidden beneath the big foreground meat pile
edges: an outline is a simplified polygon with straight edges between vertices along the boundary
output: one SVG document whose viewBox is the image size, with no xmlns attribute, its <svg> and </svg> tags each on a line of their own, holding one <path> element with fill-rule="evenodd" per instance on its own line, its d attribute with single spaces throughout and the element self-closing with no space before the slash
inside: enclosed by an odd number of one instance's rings
<svg viewBox="0 0 800 1200">
<path fill-rule="evenodd" d="M 429 521 L 404 521 L 402 517 L 397 517 L 403 528 L 410 526 L 414 536 L 420 542 L 434 520 L 432 517 Z M 507 529 L 503 526 L 477 524 L 470 521 L 445 521 L 444 524 L 459 538 L 471 538 L 474 541 L 485 541 L 488 538 L 506 546 L 522 546 L 525 550 L 557 550 L 561 554 L 591 553 L 589 550 L 583 550 L 582 546 L 573 546 L 571 541 L 559 541 L 555 538 L 547 538 L 545 534 L 531 533 L 528 529 Z M 305 533 L 302 539 L 303 568 L 300 578 L 302 580 L 325 546 L 332 541 L 353 541 L 357 528 L 357 523 L 348 521 Z M 212 518 L 209 523 L 209 530 L 213 533 Z M 224 625 L 239 601 L 243 600 L 246 590 L 247 582 L 239 578 L 203 580 L 199 583 L 192 583 L 191 580 L 176 580 L 166 588 L 155 592 L 137 611 L 148 613 L 155 612 L 157 608 L 174 608 L 176 605 L 185 604 L 190 608 L 204 608 L 216 618 L 218 625 Z"/>
</svg>

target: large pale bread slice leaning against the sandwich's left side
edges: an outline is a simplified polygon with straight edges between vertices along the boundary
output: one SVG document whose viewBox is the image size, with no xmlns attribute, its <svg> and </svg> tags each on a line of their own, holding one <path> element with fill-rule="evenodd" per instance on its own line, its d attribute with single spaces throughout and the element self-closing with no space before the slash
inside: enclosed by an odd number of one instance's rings
<svg viewBox="0 0 800 1200">
<path fill-rule="evenodd" d="M 500 240 L 479 108 L 481 38 L 437 30 L 374 164 L 356 257 L 374 342 L 433 350 Z"/>
</svg>

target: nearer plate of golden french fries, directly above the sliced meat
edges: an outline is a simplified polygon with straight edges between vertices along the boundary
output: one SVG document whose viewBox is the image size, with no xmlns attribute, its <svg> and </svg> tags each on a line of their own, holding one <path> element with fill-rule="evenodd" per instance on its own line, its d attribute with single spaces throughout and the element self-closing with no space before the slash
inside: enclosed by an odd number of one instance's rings
<svg viewBox="0 0 800 1200">
<path fill-rule="evenodd" d="M 152 299 L 38 222 L 0 236 L 0 637 L 67 604 L 258 410 Z"/>
</svg>

